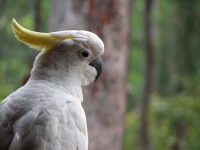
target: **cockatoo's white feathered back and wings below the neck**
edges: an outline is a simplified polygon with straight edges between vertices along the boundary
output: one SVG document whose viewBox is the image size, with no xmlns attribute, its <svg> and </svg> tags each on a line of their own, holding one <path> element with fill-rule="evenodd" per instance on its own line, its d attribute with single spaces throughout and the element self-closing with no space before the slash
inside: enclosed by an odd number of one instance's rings
<svg viewBox="0 0 200 150">
<path fill-rule="evenodd" d="M 80 100 L 70 94 L 21 88 L 0 104 L 0 112 L 0 133 L 8 135 L 8 140 L 0 139 L 5 143 L 2 149 L 16 144 L 22 150 L 87 148 L 85 113 Z"/>
</svg>

